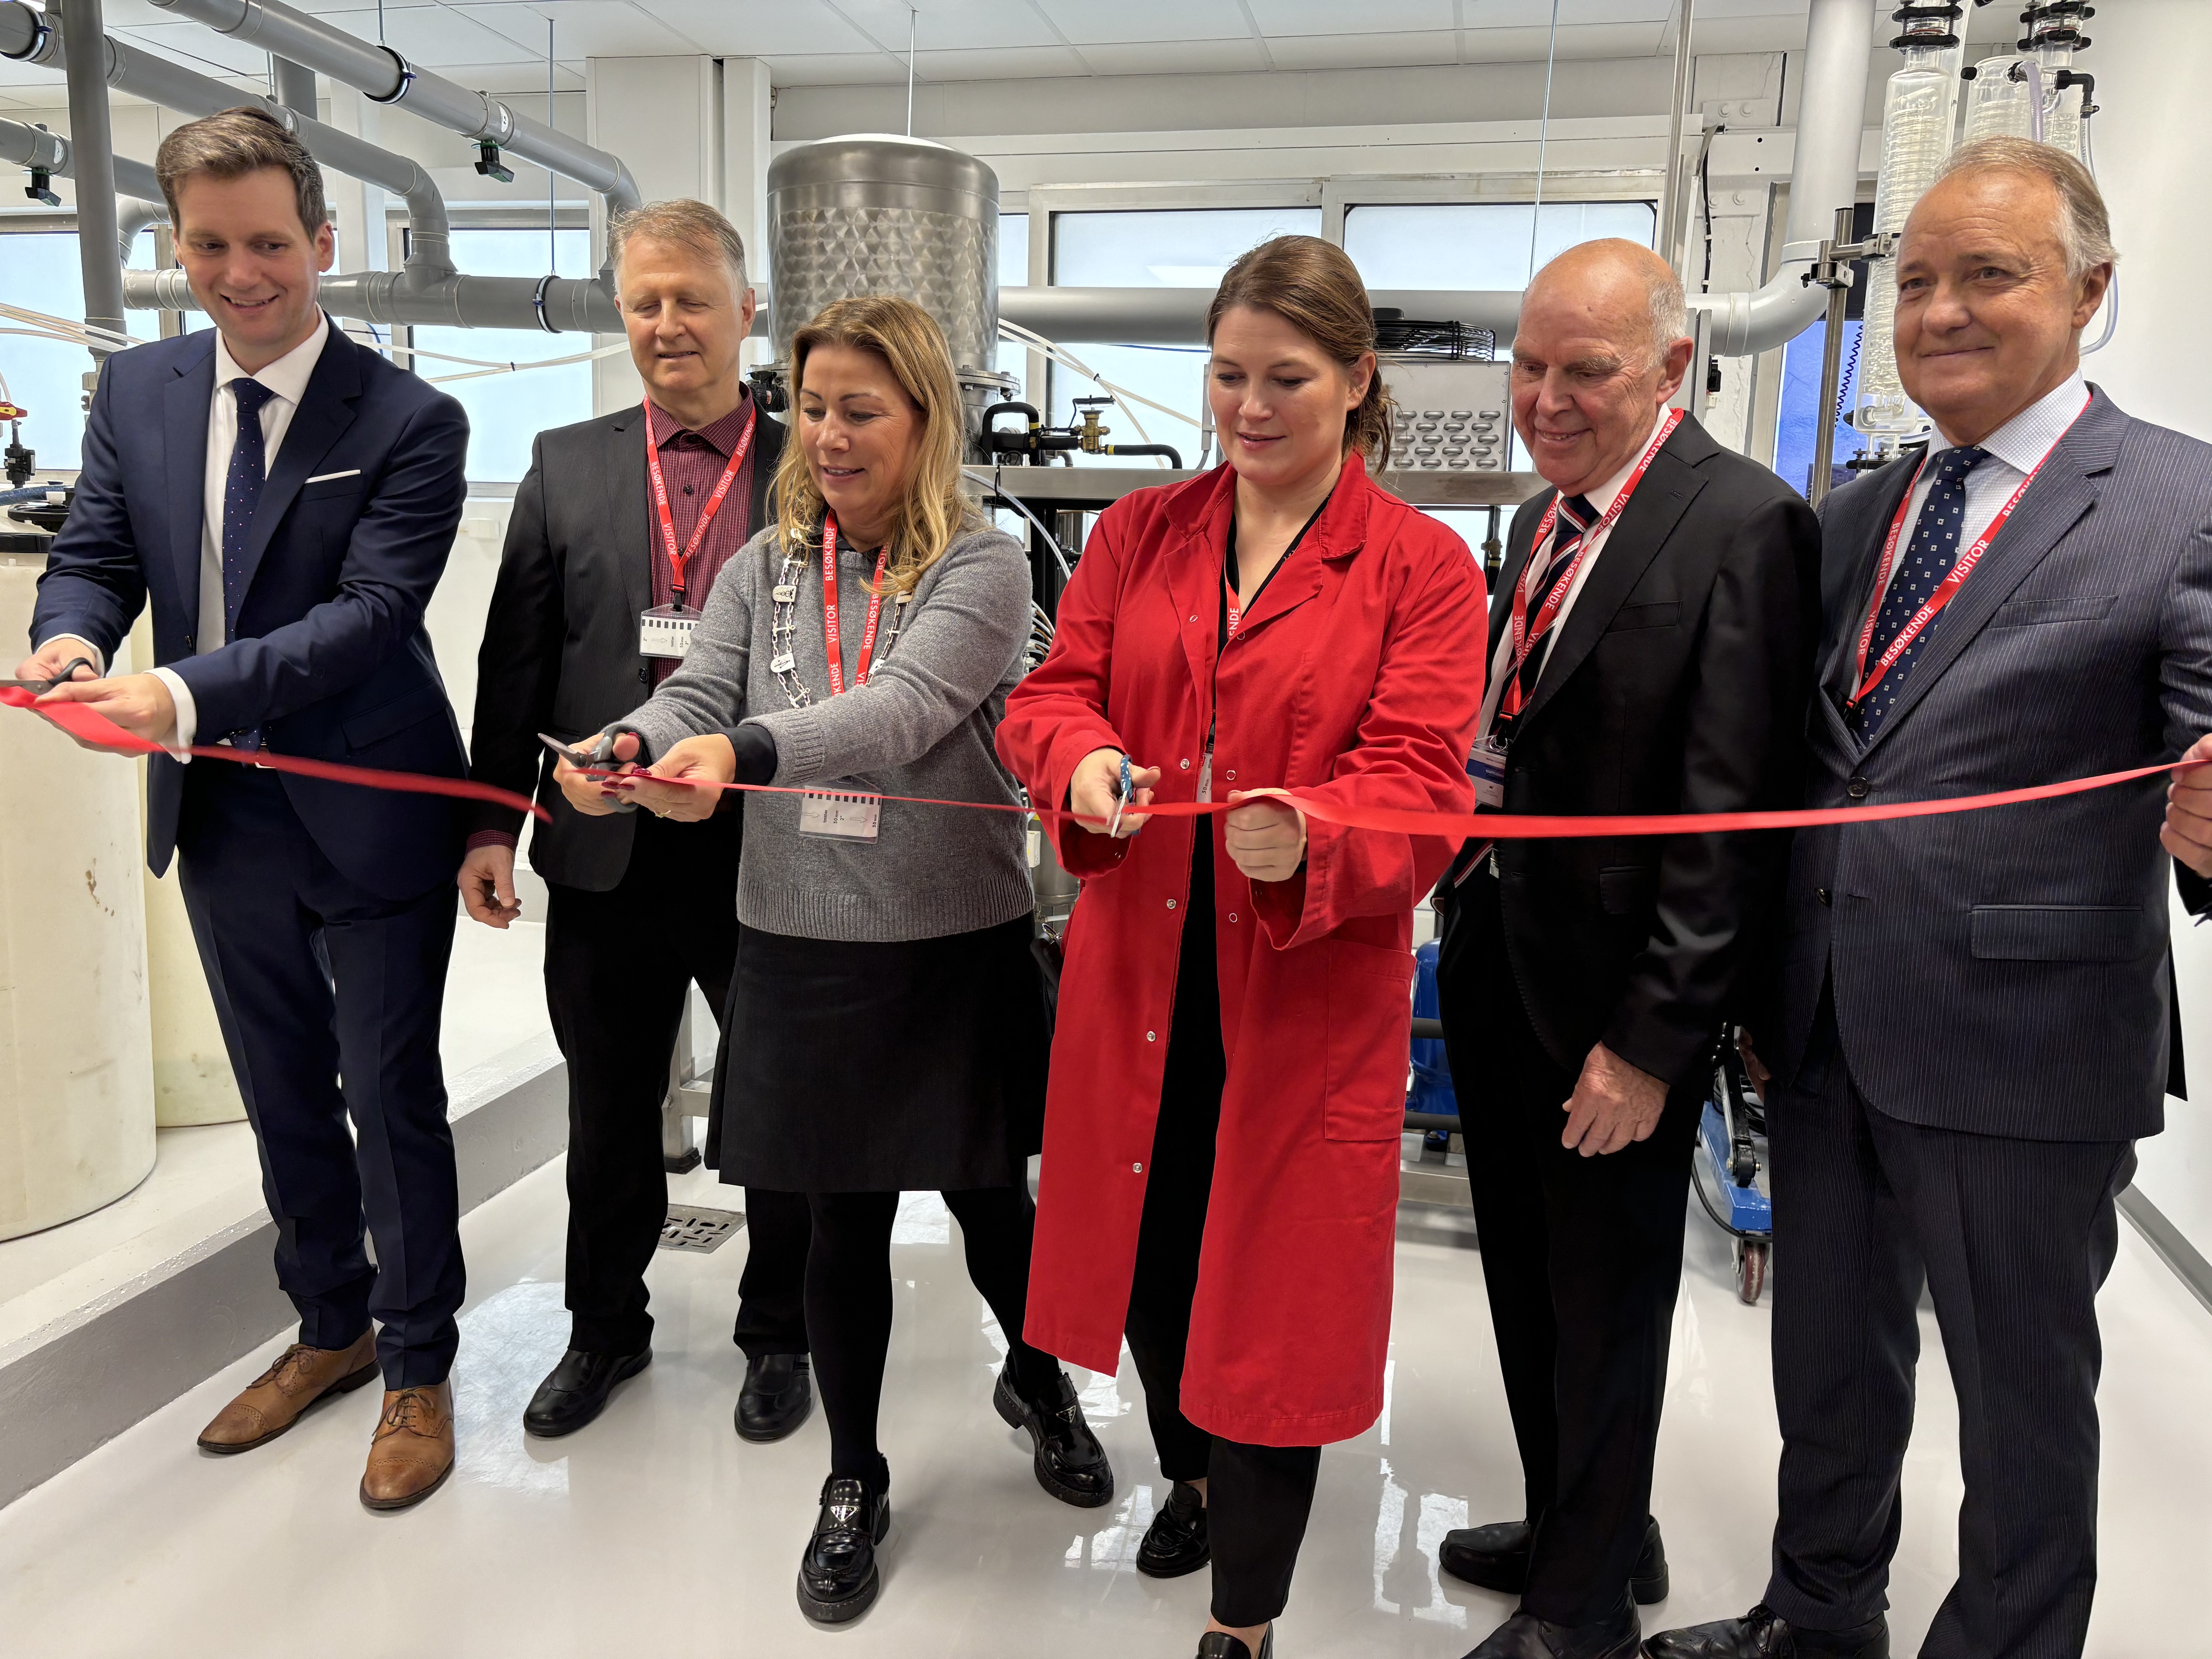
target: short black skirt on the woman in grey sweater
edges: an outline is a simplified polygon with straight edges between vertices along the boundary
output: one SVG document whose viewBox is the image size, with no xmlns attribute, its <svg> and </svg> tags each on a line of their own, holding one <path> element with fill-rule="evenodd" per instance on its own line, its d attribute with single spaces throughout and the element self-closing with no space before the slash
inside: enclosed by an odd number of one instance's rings
<svg viewBox="0 0 2212 1659">
<path fill-rule="evenodd" d="M 708 1161 L 781 1192 L 1011 1186 L 1044 1137 L 1033 920 L 854 942 L 739 927 Z"/>
</svg>

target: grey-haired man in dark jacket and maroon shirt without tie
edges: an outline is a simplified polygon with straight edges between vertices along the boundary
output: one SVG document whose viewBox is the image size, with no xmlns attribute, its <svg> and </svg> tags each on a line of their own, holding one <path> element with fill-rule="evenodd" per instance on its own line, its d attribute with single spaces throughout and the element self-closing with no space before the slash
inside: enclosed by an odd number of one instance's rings
<svg viewBox="0 0 2212 1659">
<path fill-rule="evenodd" d="M 522 1413 L 540 1436 L 582 1429 L 653 1358 L 646 1265 L 668 1214 L 668 1053 L 695 982 L 721 1018 L 743 814 L 732 794 L 699 823 L 580 816 L 538 734 L 586 741 L 666 679 L 721 566 L 772 522 L 785 438 L 739 374 L 754 301 L 737 228 L 701 201 L 657 201 L 615 221 L 608 252 L 646 400 L 540 434 L 507 526 L 471 734 L 476 776 L 553 814 L 531 836 L 531 865 L 549 889 L 546 1002 L 568 1060 L 571 1336 Z M 462 902 L 507 927 L 520 916 L 522 814 L 478 807 L 471 825 Z M 810 1230 L 803 1197 L 748 1190 L 737 1314 L 748 1440 L 781 1440 L 814 1402 L 801 1307 Z"/>
</svg>

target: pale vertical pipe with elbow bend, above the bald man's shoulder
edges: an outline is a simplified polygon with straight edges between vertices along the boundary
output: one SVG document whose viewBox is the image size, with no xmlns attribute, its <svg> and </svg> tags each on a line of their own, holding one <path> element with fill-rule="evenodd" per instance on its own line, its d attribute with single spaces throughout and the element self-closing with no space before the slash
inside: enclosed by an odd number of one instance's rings
<svg viewBox="0 0 2212 1659">
<path fill-rule="evenodd" d="M 1781 270 L 1750 294 L 1690 294 L 1692 310 L 1712 314 L 1717 356 L 1772 352 L 1827 310 L 1827 290 L 1807 285 L 1805 272 L 1820 257 L 1820 241 L 1836 232 L 1836 210 L 1858 201 L 1874 11 L 1869 0 L 1812 0 Z"/>
</svg>

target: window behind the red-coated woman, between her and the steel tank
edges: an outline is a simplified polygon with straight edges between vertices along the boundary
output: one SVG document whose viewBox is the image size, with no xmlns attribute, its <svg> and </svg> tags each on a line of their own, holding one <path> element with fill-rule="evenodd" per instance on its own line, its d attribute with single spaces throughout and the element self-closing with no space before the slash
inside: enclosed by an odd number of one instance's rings
<svg viewBox="0 0 2212 1659">
<path fill-rule="evenodd" d="M 1237 257 L 1272 237 L 1321 232 L 1321 208 L 1177 208 L 1161 212 L 1060 212 L 1053 215 L 1053 283 L 1068 288 L 1217 288 Z M 1199 407 L 1203 398 L 1206 347 L 1199 345 L 1099 345 L 1062 341 L 1073 356 L 1117 385 L 1126 385 L 1170 409 L 1188 409 L 1175 420 L 1137 405 L 1135 431 L 1121 409 L 1104 414 L 1108 442 L 1175 445 L 1183 462 L 1197 460 Z M 1053 425 L 1075 418 L 1075 398 L 1104 392 L 1053 365 Z M 1113 456 L 1075 456 L 1075 465 L 1130 465 Z"/>
</svg>

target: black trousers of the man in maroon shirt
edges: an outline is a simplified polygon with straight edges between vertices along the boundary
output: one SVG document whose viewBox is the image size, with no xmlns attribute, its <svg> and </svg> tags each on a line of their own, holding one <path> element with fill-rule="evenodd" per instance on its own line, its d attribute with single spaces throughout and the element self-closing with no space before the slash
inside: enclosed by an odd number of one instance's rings
<svg viewBox="0 0 2212 1659">
<path fill-rule="evenodd" d="M 661 1097 L 692 982 L 723 1018 L 737 960 L 737 852 L 743 818 L 639 814 L 630 867 L 606 894 L 546 883 L 546 1009 L 568 1062 L 571 1345 L 635 1354 L 653 1340 L 646 1267 L 668 1219 Z M 670 896 L 681 907 L 670 914 Z M 646 918 L 653 938 L 641 940 Z M 745 1358 L 805 1354 L 801 1285 L 807 1203 L 745 1192 L 745 1274 L 737 1345 Z"/>
</svg>

